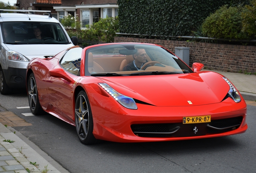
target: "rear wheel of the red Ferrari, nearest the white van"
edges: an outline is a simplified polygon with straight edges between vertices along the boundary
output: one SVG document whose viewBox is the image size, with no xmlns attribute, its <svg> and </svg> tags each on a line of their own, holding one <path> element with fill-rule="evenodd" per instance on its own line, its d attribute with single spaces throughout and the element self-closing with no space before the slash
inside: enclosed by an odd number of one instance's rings
<svg viewBox="0 0 256 173">
<path fill-rule="evenodd" d="M 27 81 L 27 93 L 29 97 L 29 107 L 31 113 L 33 113 L 34 115 L 40 115 L 43 110 L 39 103 L 37 85 L 35 82 L 35 75 L 33 73 L 30 74 L 29 80 Z"/>
</svg>

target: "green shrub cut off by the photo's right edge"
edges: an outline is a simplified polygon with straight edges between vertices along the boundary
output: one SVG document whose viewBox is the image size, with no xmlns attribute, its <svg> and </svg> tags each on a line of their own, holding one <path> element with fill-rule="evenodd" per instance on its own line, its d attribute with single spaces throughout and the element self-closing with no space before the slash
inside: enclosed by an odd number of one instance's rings
<svg viewBox="0 0 256 173">
<path fill-rule="evenodd" d="M 256 0 L 252 0 L 251 6 L 246 5 L 242 12 L 242 31 L 249 36 L 256 37 Z"/>
</svg>

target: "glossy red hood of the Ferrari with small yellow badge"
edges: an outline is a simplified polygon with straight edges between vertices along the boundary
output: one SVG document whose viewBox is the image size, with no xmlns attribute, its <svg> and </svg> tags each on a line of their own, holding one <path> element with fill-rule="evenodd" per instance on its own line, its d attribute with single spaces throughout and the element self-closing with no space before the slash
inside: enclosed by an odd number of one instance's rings
<svg viewBox="0 0 256 173">
<path fill-rule="evenodd" d="M 221 102 L 229 91 L 215 72 L 100 77 L 119 93 L 155 106 L 196 106 Z"/>
</svg>

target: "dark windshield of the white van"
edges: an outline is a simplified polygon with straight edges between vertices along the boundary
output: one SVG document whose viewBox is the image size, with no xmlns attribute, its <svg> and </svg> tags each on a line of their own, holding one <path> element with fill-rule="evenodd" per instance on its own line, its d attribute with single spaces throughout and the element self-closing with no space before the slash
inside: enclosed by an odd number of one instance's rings
<svg viewBox="0 0 256 173">
<path fill-rule="evenodd" d="M 2 22 L 1 28 L 6 44 L 68 44 L 59 23 Z"/>
</svg>

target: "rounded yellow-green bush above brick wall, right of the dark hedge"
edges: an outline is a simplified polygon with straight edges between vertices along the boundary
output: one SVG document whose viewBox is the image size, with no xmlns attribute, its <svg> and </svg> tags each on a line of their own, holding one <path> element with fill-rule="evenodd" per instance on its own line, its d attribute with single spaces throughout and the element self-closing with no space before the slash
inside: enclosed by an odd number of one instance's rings
<svg viewBox="0 0 256 173">
<path fill-rule="evenodd" d="M 209 37 L 246 39 L 242 32 L 242 7 L 222 6 L 207 17 L 202 24 L 202 32 Z"/>
</svg>

